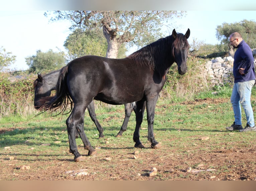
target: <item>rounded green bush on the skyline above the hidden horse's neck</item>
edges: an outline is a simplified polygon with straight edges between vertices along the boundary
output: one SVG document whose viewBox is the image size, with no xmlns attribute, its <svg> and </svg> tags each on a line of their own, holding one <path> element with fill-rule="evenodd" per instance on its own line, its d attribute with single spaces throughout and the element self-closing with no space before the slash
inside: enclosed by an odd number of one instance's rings
<svg viewBox="0 0 256 191">
<path fill-rule="evenodd" d="M 41 50 L 36 51 L 36 55 L 25 58 L 30 72 L 52 71 L 65 66 L 64 53 L 53 52 L 51 49 L 46 53 Z"/>
</svg>

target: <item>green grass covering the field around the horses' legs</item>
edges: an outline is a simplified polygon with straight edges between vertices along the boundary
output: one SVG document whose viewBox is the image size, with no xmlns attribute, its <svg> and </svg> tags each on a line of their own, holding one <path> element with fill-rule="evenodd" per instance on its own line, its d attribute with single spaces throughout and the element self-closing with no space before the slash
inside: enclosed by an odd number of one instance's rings
<svg viewBox="0 0 256 191">
<path fill-rule="evenodd" d="M 245 148 L 251 149 L 255 142 L 255 132 L 239 133 L 228 132 L 225 127 L 233 122 L 233 110 L 229 100 L 231 91 L 226 90 L 221 94 L 204 94 L 195 96 L 194 101 L 173 102 L 168 99 L 159 99 L 155 109 L 154 133 L 158 142 L 161 142 L 162 147 L 158 149 L 142 149 L 138 160 L 131 162 L 131 154 L 136 150 L 133 142 L 133 131 L 135 127 L 135 114 L 132 112 L 127 131 L 122 137 L 116 138 L 115 135 L 120 130 L 124 119 L 124 106 L 98 107 L 96 115 L 104 129 L 104 139 L 98 139 L 99 133 L 96 126 L 91 120 L 89 113 L 85 114 L 85 132 L 91 144 L 94 147 L 101 147 L 98 151 L 98 157 L 87 157 L 87 161 L 93 163 L 94 160 L 99 160 L 97 166 L 91 164 L 95 170 L 95 174 L 99 179 L 108 179 L 109 171 L 112 173 L 119 169 L 120 166 L 114 161 L 122 161 L 122 166 L 126 169 L 123 173 L 131 173 L 128 179 L 136 179 L 137 169 L 147 169 L 149 164 L 157 164 L 158 168 L 165 169 L 171 165 L 171 161 L 179 162 L 178 165 L 172 167 L 175 174 L 171 170 L 162 170 L 158 176 L 153 179 L 189 179 L 191 175 L 184 173 L 176 173 L 176 169 L 185 169 L 186 166 L 196 168 L 200 163 L 208 163 L 204 160 L 204 155 L 211 153 L 214 161 L 210 163 L 208 168 L 218 169 L 216 172 L 204 172 L 205 174 L 220 175 L 224 171 L 229 174 L 232 172 L 232 163 L 229 159 L 225 164 L 219 166 L 219 158 L 215 155 L 226 150 L 237 151 Z M 207 99 L 206 99 L 207 98 Z M 218 101 L 222 100 L 222 101 Z M 255 91 L 252 95 L 253 108 L 256 107 Z M 97 104 L 97 103 L 96 103 Z M 9 156 L 14 156 L 18 159 L 16 165 L 31 164 L 33 161 L 41 161 L 43 164 L 34 164 L 35 167 L 31 170 L 36 172 L 37 169 L 45 170 L 56 164 L 49 163 L 51 160 L 72 161 L 73 155 L 69 153 L 69 143 L 66 127 L 66 119 L 68 115 L 58 115 L 50 117 L 49 114 L 43 113 L 34 118 L 22 117 L 4 117 L 0 119 L 0 131 L 5 133 L 0 134 L 0 158 L 3 161 L 8 160 Z M 243 124 L 246 124 L 245 116 L 243 115 Z M 142 128 L 147 127 L 146 113 L 142 123 Z M 145 147 L 150 147 L 147 141 L 147 130 L 140 130 L 141 142 Z M 201 138 L 209 136 L 210 139 L 202 141 Z M 106 140 L 109 142 L 106 144 Z M 81 139 L 76 139 L 78 149 L 81 154 L 87 154 L 83 150 Z M 50 144 L 50 145 L 47 145 Z M 6 149 L 10 147 L 10 149 Z M 128 156 L 127 156 L 128 153 Z M 195 160 L 195 155 L 200 155 L 201 161 Z M 151 156 L 156 156 L 152 158 Z M 105 157 L 113 158 L 113 162 L 106 162 Z M 187 159 L 186 161 L 183 161 Z M 196 157 L 198 159 L 198 157 Z M 215 158 L 215 159 L 214 159 Z M 171 159 L 171 160 L 167 160 Z M 224 158 L 225 159 L 225 158 Z M 235 163 L 246 163 L 239 161 Z M 6 168 L 5 163 L 0 163 L 0 168 Z M 255 166 L 255 162 L 250 163 Z M 83 168 L 82 164 L 76 164 L 77 168 Z M 90 162 L 87 164 L 90 167 Z M 100 168 L 106 169 L 104 173 L 99 171 Z M 67 167 L 72 169 L 72 165 Z M 97 171 L 98 169 L 98 171 Z M 17 171 L 17 170 L 14 170 Z M 146 171 L 144 174 L 147 173 Z M 204 174 L 202 173 L 202 174 Z M 95 175 L 95 176 L 96 176 Z M 67 177 L 63 175 L 62 178 Z M 120 177 L 120 175 L 119 175 Z M 195 176 L 196 177 L 196 176 Z M 9 179 L 15 179 L 10 177 Z M 126 179 L 125 177 L 124 179 Z M 1 177 L 0 177 L 1 179 Z"/>
</svg>

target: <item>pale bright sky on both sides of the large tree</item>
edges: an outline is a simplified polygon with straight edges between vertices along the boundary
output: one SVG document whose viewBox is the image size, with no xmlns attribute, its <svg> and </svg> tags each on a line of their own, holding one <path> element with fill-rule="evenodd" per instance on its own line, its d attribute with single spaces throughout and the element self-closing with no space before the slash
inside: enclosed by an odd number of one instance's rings
<svg viewBox="0 0 256 191">
<path fill-rule="evenodd" d="M 223 23 L 235 23 L 244 19 L 256 22 L 256 11 L 187 11 L 185 16 L 171 21 L 176 32 L 183 33 L 190 29 L 188 42 L 203 41 L 218 44 L 216 28 Z M 37 50 L 47 52 L 66 52 L 63 44 L 71 33 L 68 21 L 50 22 L 45 17 L 46 11 L 1 11 L 0 10 L 0 47 L 16 56 L 16 62 L 9 68 L 27 70 L 25 58 L 36 55 Z M 171 34 L 172 30 L 169 31 Z M 166 36 L 170 35 L 166 34 Z M 136 51 L 129 50 L 128 54 Z"/>
</svg>

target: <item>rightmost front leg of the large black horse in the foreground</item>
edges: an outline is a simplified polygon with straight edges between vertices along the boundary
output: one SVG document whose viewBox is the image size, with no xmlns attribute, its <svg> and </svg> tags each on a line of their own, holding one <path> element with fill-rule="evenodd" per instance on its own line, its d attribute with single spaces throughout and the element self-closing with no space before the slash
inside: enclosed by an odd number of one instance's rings
<svg viewBox="0 0 256 191">
<path fill-rule="evenodd" d="M 147 121 L 148 121 L 148 141 L 151 143 L 152 148 L 160 148 L 160 144 L 155 140 L 154 137 L 154 116 L 155 116 L 155 106 L 157 102 L 158 96 L 153 99 L 147 100 L 146 107 L 147 107 Z"/>
</svg>

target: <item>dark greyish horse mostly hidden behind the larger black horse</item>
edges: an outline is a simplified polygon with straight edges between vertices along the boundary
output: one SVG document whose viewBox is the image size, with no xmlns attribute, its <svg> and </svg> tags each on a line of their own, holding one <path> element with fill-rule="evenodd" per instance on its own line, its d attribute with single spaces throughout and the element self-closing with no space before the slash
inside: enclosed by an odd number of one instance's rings
<svg viewBox="0 0 256 191">
<path fill-rule="evenodd" d="M 38 74 L 37 79 L 34 81 L 34 107 L 36 109 L 40 109 L 41 105 L 38 103 L 38 100 L 42 97 L 50 96 L 51 91 L 56 90 L 58 76 L 59 76 L 60 70 L 50 72 L 44 76 Z M 144 104 L 143 112 L 145 109 L 146 104 Z M 94 101 L 92 101 L 87 106 L 89 115 L 96 125 L 98 131 L 99 131 L 99 138 L 103 138 L 103 128 L 99 121 L 97 120 L 96 114 L 95 114 L 95 108 L 94 108 Z M 121 126 L 120 131 L 117 133 L 116 137 L 120 137 L 123 135 L 123 132 L 126 131 L 129 118 L 131 116 L 131 112 L 134 110 L 136 112 L 136 102 L 133 103 L 126 103 L 125 104 L 125 118 L 124 122 Z M 78 137 L 78 131 L 76 129 L 76 138 Z"/>
</svg>

